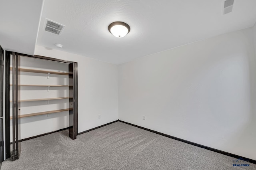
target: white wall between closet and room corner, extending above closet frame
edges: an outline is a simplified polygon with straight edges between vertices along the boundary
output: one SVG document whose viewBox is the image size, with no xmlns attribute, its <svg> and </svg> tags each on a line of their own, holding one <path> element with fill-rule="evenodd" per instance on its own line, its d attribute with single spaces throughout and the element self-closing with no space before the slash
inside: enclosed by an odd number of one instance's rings
<svg viewBox="0 0 256 170">
<path fill-rule="evenodd" d="M 35 54 L 78 63 L 78 132 L 118 119 L 117 65 L 39 45 Z"/>
</svg>

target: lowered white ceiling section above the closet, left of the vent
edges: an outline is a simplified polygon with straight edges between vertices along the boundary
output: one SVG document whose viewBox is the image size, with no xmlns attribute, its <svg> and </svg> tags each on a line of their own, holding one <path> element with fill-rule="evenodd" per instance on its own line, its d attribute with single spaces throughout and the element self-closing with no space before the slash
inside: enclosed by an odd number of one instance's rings
<svg viewBox="0 0 256 170">
<path fill-rule="evenodd" d="M 34 55 L 43 0 L 0 0 L 0 45 Z"/>
</svg>

